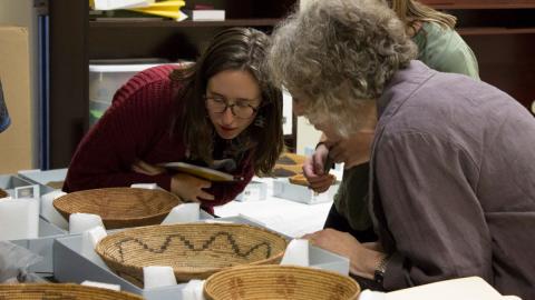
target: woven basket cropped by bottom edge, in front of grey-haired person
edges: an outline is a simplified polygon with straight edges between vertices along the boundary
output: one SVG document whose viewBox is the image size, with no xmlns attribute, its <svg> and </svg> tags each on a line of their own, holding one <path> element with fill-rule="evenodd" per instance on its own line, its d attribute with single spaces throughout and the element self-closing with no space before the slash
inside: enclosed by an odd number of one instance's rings
<svg viewBox="0 0 535 300">
<path fill-rule="evenodd" d="M 211 276 L 204 283 L 207 300 L 352 300 L 359 293 L 359 284 L 349 277 L 293 266 L 234 268 Z"/>
</svg>

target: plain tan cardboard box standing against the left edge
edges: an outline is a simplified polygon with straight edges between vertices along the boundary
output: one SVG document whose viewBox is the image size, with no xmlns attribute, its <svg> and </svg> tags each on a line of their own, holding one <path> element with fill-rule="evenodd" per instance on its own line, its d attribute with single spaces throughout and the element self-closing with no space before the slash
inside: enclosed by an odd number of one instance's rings
<svg viewBox="0 0 535 300">
<path fill-rule="evenodd" d="M 0 173 L 31 169 L 33 161 L 32 93 L 28 30 L 0 26 L 0 80 L 11 126 L 0 133 Z"/>
</svg>

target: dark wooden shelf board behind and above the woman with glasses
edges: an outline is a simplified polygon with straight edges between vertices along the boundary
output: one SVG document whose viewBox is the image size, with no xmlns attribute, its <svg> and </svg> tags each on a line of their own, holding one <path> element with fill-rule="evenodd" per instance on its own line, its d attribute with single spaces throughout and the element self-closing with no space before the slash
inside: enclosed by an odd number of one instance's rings
<svg viewBox="0 0 535 300">
<path fill-rule="evenodd" d="M 128 18 L 113 18 L 109 20 L 99 19 L 89 21 L 90 28 L 157 28 L 157 27 L 175 27 L 175 28 L 192 28 L 192 27 L 272 27 L 280 22 L 281 19 L 265 18 L 265 19 L 228 19 L 224 21 L 173 21 L 173 20 L 136 20 Z"/>
</svg>

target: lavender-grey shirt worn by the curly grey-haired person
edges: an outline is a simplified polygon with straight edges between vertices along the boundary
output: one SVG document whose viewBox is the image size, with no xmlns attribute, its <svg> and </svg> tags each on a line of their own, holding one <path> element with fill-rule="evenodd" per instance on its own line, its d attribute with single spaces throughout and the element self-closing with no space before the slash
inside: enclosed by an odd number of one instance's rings
<svg viewBox="0 0 535 300">
<path fill-rule="evenodd" d="M 535 119 L 503 91 L 419 61 L 378 100 L 370 203 L 385 288 L 478 276 L 535 299 Z"/>
</svg>

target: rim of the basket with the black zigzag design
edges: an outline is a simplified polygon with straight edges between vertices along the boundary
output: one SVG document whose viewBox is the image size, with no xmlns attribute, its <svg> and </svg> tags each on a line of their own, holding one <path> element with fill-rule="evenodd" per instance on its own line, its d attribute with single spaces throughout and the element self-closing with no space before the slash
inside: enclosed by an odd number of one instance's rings
<svg viewBox="0 0 535 300">
<path fill-rule="evenodd" d="M 255 264 L 262 264 L 262 263 L 265 263 L 268 261 L 271 261 L 271 260 L 275 260 L 275 259 L 279 259 L 281 258 L 282 256 L 284 256 L 284 252 L 285 252 L 285 249 L 288 247 L 288 239 L 282 236 L 281 233 L 276 232 L 276 231 L 273 231 L 273 230 L 270 230 L 270 229 L 266 229 L 266 228 L 263 228 L 263 227 L 256 227 L 256 226 L 251 226 L 251 224 L 241 224 L 241 223 L 208 223 L 208 222 L 188 222 L 188 223 L 176 223 L 176 224 L 155 224 L 155 226 L 145 226 L 145 227 L 136 227 L 136 228 L 129 228 L 129 229 L 125 229 L 125 230 L 121 230 L 119 232 L 114 232 L 111 234 L 108 234 L 107 237 L 103 238 L 98 243 L 97 246 L 95 247 L 95 252 L 97 252 L 97 254 L 103 258 L 103 260 L 106 262 L 107 260 L 109 261 L 113 261 L 114 263 L 119 263 L 126 268 L 133 268 L 133 269 L 137 269 L 137 270 L 143 270 L 144 267 L 139 267 L 139 266 L 135 266 L 135 264 L 129 264 L 129 263 L 124 263 L 124 262 L 119 262 L 115 259 L 110 259 L 109 257 L 105 257 L 104 256 L 104 251 L 101 250 L 101 244 L 105 240 L 109 240 L 110 238 L 115 237 L 115 236 L 118 236 L 118 234 L 123 234 L 125 233 L 126 231 L 136 231 L 136 230 L 148 230 L 149 228 L 162 228 L 162 227 L 185 227 L 185 226 L 202 226 L 202 227 L 212 227 L 212 226 L 223 226 L 223 227 L 244 227 L 244 228 L 249 228 L 249 229 L 253 229 L 253 230 L 260 230 L 260 231 L 264 231 L 264 232 L 268 232 L 270 234 L 273 234 L 273 236 L 276 236 L 278 238 L 280 238 L 282 241 L 284 241 L 285 243 L 285 247 L 284 247 L 284 250 L 281 251 L 280 253 L 278 254 L 273 254 L 271 258 L 268 258 L 268 259 L 262 259 L 262 260 L 257 260 L 257 261 L 253 261 L 253 262 L 250 262 L 247 264 L 239 264 L 239 266 L 255 266 Z M 157 232 L 157 231 L 156 231 Z M 228 269 L 232 269 L 232 268 L 236 268 L 239 266 L 233 266 L 233 267 L 226 267 Z M 109 268 L 109 267 L 108 267 Z M 223 270 L 223 269 L 226 269 L 226 268 L 205 268 L 205 269 L 200 269 L 200 270 L 195 270 L 195 271 L 187 271 L 187 270 L 182 270 L 179 268 L 173 268 L 173 272 L 181 272 L 181 273 L 184 273 L 184 274 L 202 274 L 202 273 L 205 273 L 205 272 L 211 272 L 211 271 L 216 271 L 216 272 L 220 272 L 217 270 Z M 110 268 L 111 269 L 111 268 Z"/>
</svg>

